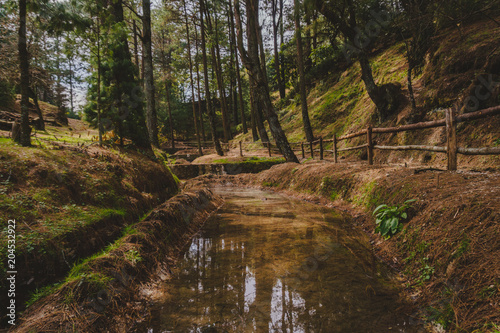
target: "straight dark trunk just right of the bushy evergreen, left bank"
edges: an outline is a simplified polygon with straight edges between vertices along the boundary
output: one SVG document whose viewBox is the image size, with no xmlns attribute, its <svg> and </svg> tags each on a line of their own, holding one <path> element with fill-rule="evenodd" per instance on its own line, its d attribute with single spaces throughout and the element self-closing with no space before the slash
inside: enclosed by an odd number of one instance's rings
<svg viewBox="0 0 500 333">
<path fill-rule="evenodd" d="M 144 56 L 144 86 L 146 88 L 146 125 L 149 141 L 155 147 L 158 143 L 158 124 L 153 77 L 153 52 L 151 50 L 151 1 L 142 0 L 142 52 Z"/>
</svg>

